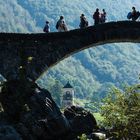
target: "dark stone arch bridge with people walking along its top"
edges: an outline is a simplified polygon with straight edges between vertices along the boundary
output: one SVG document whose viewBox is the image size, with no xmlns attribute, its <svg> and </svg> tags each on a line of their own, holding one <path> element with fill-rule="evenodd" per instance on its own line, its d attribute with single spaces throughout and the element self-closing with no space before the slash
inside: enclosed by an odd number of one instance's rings
<svg viewBox="0 0 140 140">
<path fill-rule="evenodd" d="M 63 33 L 0 33 L 0 74 L 33 80 L 62 59 L 89 47 L 140 42 L 140 22 L 118 21 Z"/>
</svg>

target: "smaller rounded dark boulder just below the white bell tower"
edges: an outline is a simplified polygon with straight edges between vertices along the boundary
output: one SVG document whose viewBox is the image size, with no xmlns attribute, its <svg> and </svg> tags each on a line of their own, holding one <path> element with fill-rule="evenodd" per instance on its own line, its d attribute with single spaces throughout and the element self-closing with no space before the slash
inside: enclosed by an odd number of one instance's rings
<svg viewBox="0 0 140 140">
<path fill-rule="evenodd" d="M 64 115 L 69 120 L 72 132 L 76 135 L 90 134 L 93 129 L 98 129 L 94 116 L 82 107 L 68 107 L 64 110 Z"/>
</svg>

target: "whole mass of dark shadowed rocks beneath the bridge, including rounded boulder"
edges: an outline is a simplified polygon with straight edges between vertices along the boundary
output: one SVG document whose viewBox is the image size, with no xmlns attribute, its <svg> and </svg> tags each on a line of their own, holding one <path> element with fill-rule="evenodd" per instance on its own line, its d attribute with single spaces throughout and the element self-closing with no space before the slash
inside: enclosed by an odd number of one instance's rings
<svg viewBox="0 0 140 140">
<path fill-rule="evenodd" d="M 28 80 L 6 82 L 0 102 L 1 140 L 74 140 L 97 128 L 90 112 L 72 106 L 63 114 L 47 90 Z"/>
</svg>

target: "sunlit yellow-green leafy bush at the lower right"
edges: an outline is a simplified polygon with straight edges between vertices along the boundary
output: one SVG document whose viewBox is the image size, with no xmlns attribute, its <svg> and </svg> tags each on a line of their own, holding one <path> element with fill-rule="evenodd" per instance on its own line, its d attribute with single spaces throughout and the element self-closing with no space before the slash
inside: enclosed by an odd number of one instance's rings
<svg viewBox="0 0 140 140">
<path fill-rule="evenodd" d="M 101 107 L 103 124 L 118 138 L 140 137 L 140 85 L 113 88 Z"/>
</svg>

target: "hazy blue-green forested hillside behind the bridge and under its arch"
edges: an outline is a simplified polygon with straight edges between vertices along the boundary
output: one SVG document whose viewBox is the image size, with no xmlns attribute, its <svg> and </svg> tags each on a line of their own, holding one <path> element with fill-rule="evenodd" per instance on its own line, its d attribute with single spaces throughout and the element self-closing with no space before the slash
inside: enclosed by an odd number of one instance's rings
<svg viewBox="0 0 140 140">
<path fill-rule="evenodd" d="M 60 15 L 64 15 L 69 30 L 79 28 L 79 17 L 84 13 L 93 25 L 95 9 L 106 9 L 107 21 L 127 20 L 126 15 L 139 0 L 1 0 L 1 32 L 42 32 L 46 20 L 51 31 Z M 113 85 L 122 88 L 138 83 L 140 73 L 140 45 L 117 43 L 97 46 L 79 52 L 50 69 L 38 80 L 42 87 L 53 91 L 58 99 L 60 90 L 69 80 L 76 89 L 76 96 L 95 99 L 104 97 Z"/>
</svg>

